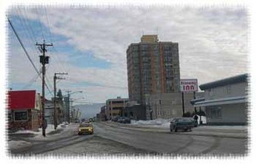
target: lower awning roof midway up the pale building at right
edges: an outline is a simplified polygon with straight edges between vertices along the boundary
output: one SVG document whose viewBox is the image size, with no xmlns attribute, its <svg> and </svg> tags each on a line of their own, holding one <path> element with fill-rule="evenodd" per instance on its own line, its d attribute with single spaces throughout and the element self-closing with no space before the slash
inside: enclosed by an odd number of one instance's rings
<svg viewBox="0 0 256 164">
<path fill-rule="evenodd" d="M 194 107 L 237 104 L 237 103 L 243 103 L 243 102 L 247 102 L 247 98 L 245 96 L 229 97 L 229 98 L 220 98 L 220 99 L 207 100 L 207 101 L 197 101 L 197 102 L 194 102 Z"/>
</svg>

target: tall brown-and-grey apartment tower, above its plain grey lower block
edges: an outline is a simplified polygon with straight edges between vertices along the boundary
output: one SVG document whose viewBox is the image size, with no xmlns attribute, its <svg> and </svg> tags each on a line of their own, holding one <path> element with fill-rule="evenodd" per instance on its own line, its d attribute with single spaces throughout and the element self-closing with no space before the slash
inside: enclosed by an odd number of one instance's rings
<svg viewBox="0 0 256 164">
<path fill-rule="evenodd" d="M 129 100 L 146 105 L 150 94 L 178 92 L 180 86 L 178 43 L 159 42 L 157 35 L 143 35 L 127 49 Z"/>
</svg>

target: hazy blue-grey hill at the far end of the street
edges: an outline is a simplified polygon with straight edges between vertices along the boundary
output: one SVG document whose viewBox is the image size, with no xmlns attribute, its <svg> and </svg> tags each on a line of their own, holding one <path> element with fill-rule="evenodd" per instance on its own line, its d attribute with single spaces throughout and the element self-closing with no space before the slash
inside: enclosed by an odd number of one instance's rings
<svg viewBox="0 0 256 164">
<path fill-rule="evenodd" d="M 90 118 L 95 117 L 97 113 L 100 112 L 100 108 L 105 105 L 102 104 L 84 104 L 84 105 L 74 105 L 74 107 L 77 109 L 80 109 L 81 111 L 81 117 L 80 118 Z"/>
</svg>

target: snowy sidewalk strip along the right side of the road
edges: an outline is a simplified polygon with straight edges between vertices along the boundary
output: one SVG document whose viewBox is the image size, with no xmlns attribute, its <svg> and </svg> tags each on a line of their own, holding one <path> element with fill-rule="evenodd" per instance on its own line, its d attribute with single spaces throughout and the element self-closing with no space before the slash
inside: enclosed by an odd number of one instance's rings
<svg viewBox="0 0 256 164">
<path fill-rule="evenodd" d="M 191 132 L 178 131 L 170 132 L 167 127 L 150 127 L 150 126 L 134 126 L 131 124 L 121 124 L 117 122 L 101 122 L 102 124 L 122 129 L 131 129 L 135 131 L 168 133 L 172 135 L 199 135 L 199 136 L 215 136 L 221 138 L 248 138 L 247 126 L 200 126 L 192 129 Z"/>
</svg>

